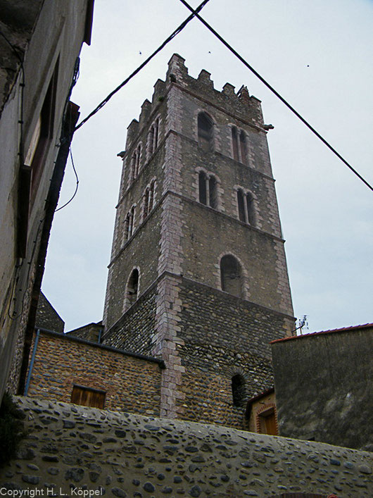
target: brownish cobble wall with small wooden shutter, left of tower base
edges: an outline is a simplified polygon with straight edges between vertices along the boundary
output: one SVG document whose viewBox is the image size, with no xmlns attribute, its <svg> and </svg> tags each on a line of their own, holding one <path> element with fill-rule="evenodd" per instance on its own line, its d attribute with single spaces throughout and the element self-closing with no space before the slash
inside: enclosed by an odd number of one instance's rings
<svg viewBox="0 0 373 498">
<path fill-rule="evenodd" d="M 106 409 L 159 415 L 160 376 L 153 359 L 42 332 L 27 394 L 70 402 L 72 387 L 80 385 L 105 391 Z"/>
</svg>

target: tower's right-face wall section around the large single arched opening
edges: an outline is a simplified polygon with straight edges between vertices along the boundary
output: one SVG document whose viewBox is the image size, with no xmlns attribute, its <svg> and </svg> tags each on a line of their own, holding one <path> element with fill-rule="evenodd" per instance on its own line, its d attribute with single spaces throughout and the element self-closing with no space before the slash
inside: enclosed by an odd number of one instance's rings
<svg viewBox="0 0 373 498">
<path fill-rule="evenodd" d="M 287 282 L 286 263 L 279 261 L 278 255 L 284 251 L 280 239 L 253 230 L 235 218 L 219 216 L 196 202 L 185 200 L 183 213 L 187 220 L 182 239 L 187 254 L 183 261 L 185 276 L 221 289 L 220 259 L 233 254 L 241 263 L 244 299 L 291 315 L 291 301 L 286 301 L 287 306 L 282 303 L 283 294 L 285 299 L 290 296 L 289 287 L 284 289 L 277 271 L 281 265 Z"/>
</svg>

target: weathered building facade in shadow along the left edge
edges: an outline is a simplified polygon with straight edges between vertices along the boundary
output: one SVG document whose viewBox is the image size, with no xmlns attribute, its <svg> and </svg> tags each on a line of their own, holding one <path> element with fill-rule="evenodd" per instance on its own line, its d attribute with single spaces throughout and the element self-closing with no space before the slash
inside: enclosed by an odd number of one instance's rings
<svg viewBox="0 0 373 498">
<path fill-rule="evenodd" d="M 0 2 L 0 399 L 23 393 L 93 0 Z"/>
</svg>

